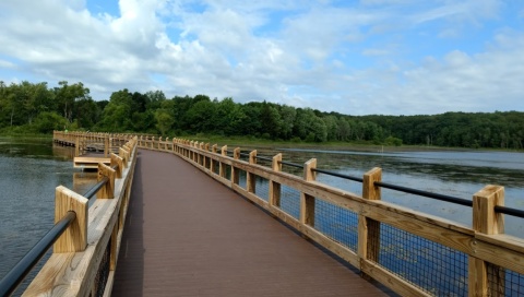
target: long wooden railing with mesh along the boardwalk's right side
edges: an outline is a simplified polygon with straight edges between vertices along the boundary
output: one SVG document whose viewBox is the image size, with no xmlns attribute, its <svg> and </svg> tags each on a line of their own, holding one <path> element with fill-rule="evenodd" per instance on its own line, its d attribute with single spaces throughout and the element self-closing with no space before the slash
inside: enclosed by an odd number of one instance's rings
<svg viewBox="0 0 524 297">
<path fill-rule="evenodd" d="M 504 215 L 495 211 L 504 203 L 503 187 L 486 186 L 473 195 L 472 228 L 382 201 L 374 183 L 381 181 L 381 168 L 364 175 L 359 195 L 317 181 L 314 158 L 303 164 L 299 177 L 282 171 L 282 154 L 265 167 L 257 164 L 257 151 L 241 161 L 238 147 L 228 156 L 227 146 L 218 152 L 216 144 L 210 147 L 210 143 L 182 139 L 139 138 L 138 144 L 183 158 L 358 268 L 362 277 L 374 278 L 403 296 L 524 294 L 524 239 L 505 235 Z M 239 185 L 243 173 L 245 188 Z M 257 177 L 269 181 L 265 199 L 255 189 Z M 299 192 L 298 215 L 283 210 L 284 187 Z M 342 227 L 320 224 L 330 215 Z"/>
</svg>

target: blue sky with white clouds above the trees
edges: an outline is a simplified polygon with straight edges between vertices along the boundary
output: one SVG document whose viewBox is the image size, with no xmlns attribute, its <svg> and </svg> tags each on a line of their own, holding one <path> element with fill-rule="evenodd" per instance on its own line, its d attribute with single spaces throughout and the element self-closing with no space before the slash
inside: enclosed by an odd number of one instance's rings
<svg viewBox="0 0 524 297">
<path fill-rule="evenodd" d="M 1 0 L 0 80 L 350 115 L 524 110 L 522 0 Z"/>
</svg>

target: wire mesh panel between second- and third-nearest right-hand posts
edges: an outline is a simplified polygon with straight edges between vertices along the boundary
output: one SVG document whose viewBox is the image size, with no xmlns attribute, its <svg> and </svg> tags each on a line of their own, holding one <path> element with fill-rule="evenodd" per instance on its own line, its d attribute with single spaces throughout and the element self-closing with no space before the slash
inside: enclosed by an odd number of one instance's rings
<svg viewBox="0 0 524 297">
<path fill-rule="evenodd" d="M 357 251 L 357 213 L 315 198 L 314 228 L 353 251 Z"/>
</svg>

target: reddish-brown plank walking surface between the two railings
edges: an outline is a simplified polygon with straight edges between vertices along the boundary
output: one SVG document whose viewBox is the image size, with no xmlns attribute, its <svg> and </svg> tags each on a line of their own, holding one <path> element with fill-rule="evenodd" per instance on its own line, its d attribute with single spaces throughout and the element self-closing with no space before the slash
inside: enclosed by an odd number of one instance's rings
<svg viewBox="0 0 524 297">
<path fill-rule="evenodd" d="M 114 296 L 386 296 L 170 154 L 140 151 Z"/>
</svg>

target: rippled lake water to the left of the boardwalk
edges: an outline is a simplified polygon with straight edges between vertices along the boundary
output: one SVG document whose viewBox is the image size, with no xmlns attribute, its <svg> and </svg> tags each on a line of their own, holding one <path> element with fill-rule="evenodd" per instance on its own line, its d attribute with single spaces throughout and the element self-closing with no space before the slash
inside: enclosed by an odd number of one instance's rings
<svg viewBox="0 0 524 297">
<path fill-rule="evenodd" d="M 0 138 L 0 278 L 52 227 L 55 188 L 84 193 L 96 182 L 95 173 L 73 168 L 73 153 L 51 139 Z"/>
</svg>

